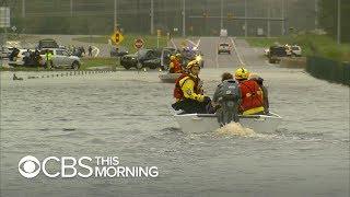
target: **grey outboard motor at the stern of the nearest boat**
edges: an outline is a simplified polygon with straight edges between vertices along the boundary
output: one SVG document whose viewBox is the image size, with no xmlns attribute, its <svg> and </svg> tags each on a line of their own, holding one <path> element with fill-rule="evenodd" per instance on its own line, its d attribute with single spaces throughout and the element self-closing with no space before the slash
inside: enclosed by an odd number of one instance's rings
<svg viewBox="0 0 350 197">
<path fill-rule="evenodd" d="M 222 82 L 218 102 L 220 108 L 217 111 L 217 116 L 221 126 L 231 121 L 240 121 L 241 90 L 235 80 L 231 79 Z"/>
</svg>

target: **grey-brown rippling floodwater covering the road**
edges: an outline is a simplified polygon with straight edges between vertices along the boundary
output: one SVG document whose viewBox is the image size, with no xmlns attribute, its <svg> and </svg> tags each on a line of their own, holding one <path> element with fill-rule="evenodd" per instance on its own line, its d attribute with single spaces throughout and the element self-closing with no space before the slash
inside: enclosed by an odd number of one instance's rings
<svg viewBox="0 0 350 197">
<path fill-rule="evenodd" d="M 24 81 L 1 72 L 1 196 L 348 196 L 349 88 L 247 58 L 256 49 L 240 42 L 247 68 L 266 79 L 271 111 L 283 117 L 272 135 L 185 135 L 171 116 L 173 84 L 160 83 L 158 72 Z M 207 94 L 234 69 L 203 69 Z M 160 175 L 26 179 L 18 163 L 27 154 L 117 155 L 122 165 L 155 165 Z"/>
</svg>

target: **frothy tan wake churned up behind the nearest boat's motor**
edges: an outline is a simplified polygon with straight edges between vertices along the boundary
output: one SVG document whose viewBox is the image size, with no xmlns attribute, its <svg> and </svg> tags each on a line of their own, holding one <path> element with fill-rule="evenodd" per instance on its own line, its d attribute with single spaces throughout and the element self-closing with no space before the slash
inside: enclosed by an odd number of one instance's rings
<svg viewBox="0 0 350 197">
<path fill-rule="evenodd" d="M 250 129 L 243 127 L 240 123 L 230 123 L 215 130 L 218 136 L 241 136 L 241 137 L 256 137 L 257 134 Z"/>
</svg>

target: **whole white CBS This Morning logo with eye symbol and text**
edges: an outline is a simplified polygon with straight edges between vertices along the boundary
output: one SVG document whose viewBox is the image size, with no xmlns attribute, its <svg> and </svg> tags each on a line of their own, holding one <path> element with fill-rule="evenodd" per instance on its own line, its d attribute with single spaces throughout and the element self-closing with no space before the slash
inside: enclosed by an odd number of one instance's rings
<svg viewBox="0 0 350 197">
<path fill-rule="evenodd" d="M 56 170 L 52 170 L 56 165 Z M 40 172 L 47 177 L 158 177 L 156 166 L 122 166 L 118 157 L 48 157 L 39 161 L 33 155 L 19 161 L 19 172 L 23 177 L 34 178 Z"/>
</svg>

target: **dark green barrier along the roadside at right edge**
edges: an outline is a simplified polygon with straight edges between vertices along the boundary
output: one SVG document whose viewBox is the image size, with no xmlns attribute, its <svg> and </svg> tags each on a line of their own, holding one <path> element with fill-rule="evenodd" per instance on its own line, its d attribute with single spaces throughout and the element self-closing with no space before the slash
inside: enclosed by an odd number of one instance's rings
<svg viewBox="0 0 350 197">
<path fill-rule="evenodd" d="M 318 79 L 341 83 L 350 86 L 350 62 L 310 56 L 306 61 L 306 71 Z"/>
</svg>

